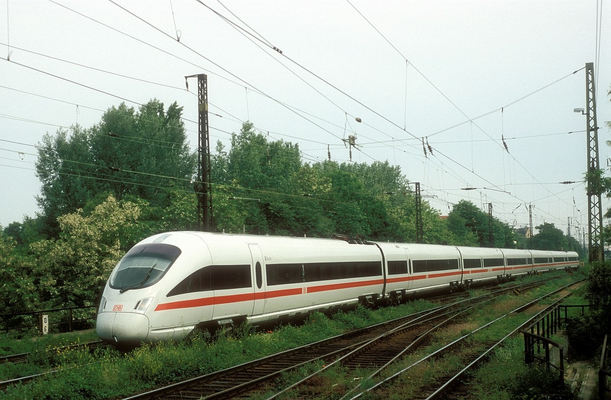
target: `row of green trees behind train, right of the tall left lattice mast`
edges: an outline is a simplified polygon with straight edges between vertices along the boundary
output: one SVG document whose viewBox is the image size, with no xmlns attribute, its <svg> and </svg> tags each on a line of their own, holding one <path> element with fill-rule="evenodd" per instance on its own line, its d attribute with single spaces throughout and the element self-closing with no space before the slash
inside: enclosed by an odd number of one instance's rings
<svg viewBox="0 0 611 400">
<path fill-rule="evenodd" d="M 415 240 L 414 193 L 398 166 L 303 163 L 296 144 L 269 141 L 246 122 L 211 157 L 218 231 Z M 447 242 L 439 212 L 423 203 L 425 239 Z"/>
</svg>

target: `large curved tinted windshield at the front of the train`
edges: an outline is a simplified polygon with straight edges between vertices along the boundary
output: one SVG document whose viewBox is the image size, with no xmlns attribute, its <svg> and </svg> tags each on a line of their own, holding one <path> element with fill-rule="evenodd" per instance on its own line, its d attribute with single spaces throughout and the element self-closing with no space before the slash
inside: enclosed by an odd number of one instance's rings
<svg viewBox="0 0 611 400">
<path fill-rule="evenodd" d="M 178 247 L 164 243 L 135 246 L 119 261 L 109 285 L 122 293 L 151 286 L 161 279 L 178 256 Z"/>
</svg>

